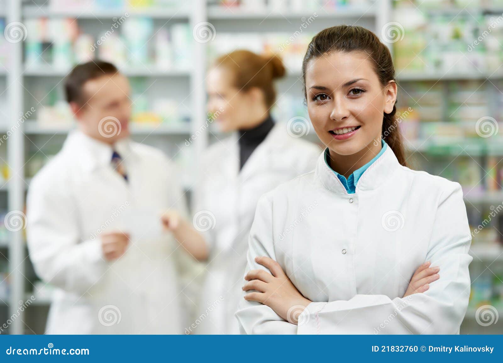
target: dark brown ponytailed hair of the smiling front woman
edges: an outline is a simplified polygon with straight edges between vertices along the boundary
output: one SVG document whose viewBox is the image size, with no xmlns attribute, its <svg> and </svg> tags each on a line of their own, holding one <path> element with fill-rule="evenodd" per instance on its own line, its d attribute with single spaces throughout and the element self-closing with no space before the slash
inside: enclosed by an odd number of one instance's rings
<svg viewBox="0 0 503 363">
<path fill-rule="evenodd" d="M 389 81 L 395 81 L 395 68 L 389 49 L 370 30 L 349 25 L 338 25 L 327 28 L 314 36 L 307 46 L 302 62 L 302 80 L 304 97 L 306 97 L 307 63 L 329 52 L 364 52 L 374 65 L 374 71 L 384 87 Z M 395 118 L 396 106 L 391 113 L 383 115 L 382 138 L 393 150 L 398 162 L 407 166 L 402 135 Z"/>
</svg>

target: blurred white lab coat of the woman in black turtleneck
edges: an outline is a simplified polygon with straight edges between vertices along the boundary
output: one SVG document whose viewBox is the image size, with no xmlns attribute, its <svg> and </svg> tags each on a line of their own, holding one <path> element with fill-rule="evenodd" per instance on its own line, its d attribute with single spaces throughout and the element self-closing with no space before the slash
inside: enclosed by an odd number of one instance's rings
<svg viewBox="0 0 503 363">
<path fill-rule="evenodd" d="M 215 224 L 205 232 L 211 253 L 194 329 L 198 334 L 239 334 L 234 314 L 257 201 L 279 184 L 313 170 L 320 150 L 289 135 L 285 123 L 277 123 L 239 170 L 237 140 L 233 135 L 212 145 L 201 166 L 194 212 L 210 211 Z"/>
</svg>

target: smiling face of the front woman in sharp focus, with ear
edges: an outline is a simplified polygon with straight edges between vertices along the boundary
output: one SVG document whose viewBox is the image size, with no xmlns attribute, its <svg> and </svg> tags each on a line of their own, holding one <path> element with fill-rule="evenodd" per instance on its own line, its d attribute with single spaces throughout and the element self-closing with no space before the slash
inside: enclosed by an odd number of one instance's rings
<svg viewBox="0 0 503 363">
<path fill-rule="evenodd" d="M 332 52 L 312 59 L 305 83 L 309 118 L 330 151 L 352 155 L 380 145 L 383 113 L 393 110 L 396 83 L 383 88 L 368 55 Z"/>
</svg>

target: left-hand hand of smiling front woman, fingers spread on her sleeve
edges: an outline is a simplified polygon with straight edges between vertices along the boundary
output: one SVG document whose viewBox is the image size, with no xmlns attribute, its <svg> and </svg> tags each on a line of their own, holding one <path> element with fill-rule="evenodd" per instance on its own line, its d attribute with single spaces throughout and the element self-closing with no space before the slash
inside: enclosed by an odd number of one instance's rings
<svg viewBox="0 0 503 363">
<path fill-rule="evenodd" d="M 248 281 L 244 291 L 257 290 L 244 296 L 247 301 L 258 301 L 273 309 L 276 314 L 292 324 L 298 323 L 302 311 L 311 303 L 295 288 L 280 264 L 269 257 L 255 257 L 272 275 L 262 269 L 250 270 L 244 277 Z"/>
</svg>

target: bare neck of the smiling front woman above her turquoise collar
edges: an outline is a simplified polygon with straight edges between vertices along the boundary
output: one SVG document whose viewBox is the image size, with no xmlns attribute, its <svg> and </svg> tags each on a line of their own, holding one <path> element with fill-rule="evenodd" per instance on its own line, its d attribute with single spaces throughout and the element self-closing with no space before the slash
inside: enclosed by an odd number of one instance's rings
<svg viewBox="0 0 503 363">
<path fill-rule="evenodd" d="M 378 142 L 377 142 L 378 141 Z M 381 151 L 381 137 L 372 140 L 370 144 L 352 155 L 339 155 L 328 149 L 330 154 L 330 167 L 346 178 L 357 169 L 372 160 Z"/>
</svg>

